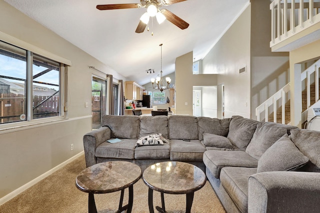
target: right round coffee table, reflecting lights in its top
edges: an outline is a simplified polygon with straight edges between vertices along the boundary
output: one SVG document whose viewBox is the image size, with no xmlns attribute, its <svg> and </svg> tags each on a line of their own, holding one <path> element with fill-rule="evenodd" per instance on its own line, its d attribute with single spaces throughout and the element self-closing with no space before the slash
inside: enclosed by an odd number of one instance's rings
<svg viewBox="0 0 320 213">
<path fill-rule="evenodd" d="M 161 193 L 162 208 L 155 207 L 160 213 L 165 213 L 164 197 L 166 194 L 186 194 L 185 212 L 190 213 L 194 192 L 201 189 L 206 177 L 198 167 L 183 162 L 161 162 L 146 168 L 142 174 L 143 182 L 149 187 L 149 212 L 153 210 L 153 190 Z"/>
</svg>

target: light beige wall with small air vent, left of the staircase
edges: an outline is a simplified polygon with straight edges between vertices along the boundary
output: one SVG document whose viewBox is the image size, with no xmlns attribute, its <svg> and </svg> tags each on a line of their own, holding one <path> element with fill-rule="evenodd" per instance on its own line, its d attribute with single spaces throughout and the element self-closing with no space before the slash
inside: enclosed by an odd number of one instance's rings
<svg viewBox="0 0 320 213">
<path fill-rule="evenodd" d="M 246 66 L 246 72 L 239 69 Z M 250 117 L 250 6 L 235 20 L 202 60 L 205 73 L 224 84 L 224 117 Z"/>
</svg>

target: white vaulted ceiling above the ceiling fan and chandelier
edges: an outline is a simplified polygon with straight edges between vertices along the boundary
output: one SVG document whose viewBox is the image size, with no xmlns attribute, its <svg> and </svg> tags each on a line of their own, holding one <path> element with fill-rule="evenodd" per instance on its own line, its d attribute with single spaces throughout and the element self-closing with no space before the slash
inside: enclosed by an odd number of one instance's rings
<svg viewBox="0 0 320 213">
<path fill-rule="evenodd" d="M 175 58 L 193 51 L 202 59 L 249 0 L 185 0 L 162 6 L 189 23 L 181 30 L 168 20 L 150 19 L 149 31 L 135 33 L 146 8 L 98 10 L 97 4 L 139 0 L 4 0 L 84 50 L 127 80 L 143 85 L 160 72 L 174 72 Z M 153 32 L 153 35 L 151 35 Z M 89 64 L 88 64 L 89 65 Z M 94 66 L 94 64 L 92 64 Z M 146 74 L 147 69 L 155 73 Z"/>
</svg>

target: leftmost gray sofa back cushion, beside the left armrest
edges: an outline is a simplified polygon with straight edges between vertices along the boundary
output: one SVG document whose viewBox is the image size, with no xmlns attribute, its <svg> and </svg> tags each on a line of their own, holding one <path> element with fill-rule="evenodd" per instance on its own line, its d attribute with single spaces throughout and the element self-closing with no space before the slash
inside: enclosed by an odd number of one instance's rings
<svg viewBox="0 0 320 213">
<path fill-rule="evenodd" d="M 104 115 L 101 126 L 110 128 L 111 138 L 138 139 L 139 123 L 136 115 Z"/>
</svg>

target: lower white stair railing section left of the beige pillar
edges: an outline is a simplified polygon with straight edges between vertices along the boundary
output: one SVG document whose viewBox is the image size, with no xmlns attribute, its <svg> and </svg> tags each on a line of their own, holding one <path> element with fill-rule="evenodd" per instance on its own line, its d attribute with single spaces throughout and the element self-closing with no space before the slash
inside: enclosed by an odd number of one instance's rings
<svg viewBox="0 0 320 213">
<path fill-rule="evenodd" d="M 269 120 L 269 107 L 273 106 L 273 121 L 276 123 L 276 111 L 278 108 L 277 101 L 281 99 L 281 111 L 282 111 L 282 124 L 285 124 L 285 102 L 287 101 L 288 93 L 290 92 L 290 83 L 286 84 L 279 91 L 274 93 L 270 98 L 264 101 L 260 106 L 255 109 L 255 115 L 257 116 L 257 120 L 261 121 L 260 114 L 264 112 L 264 121 L 267 122 Z"/>
</svg>

